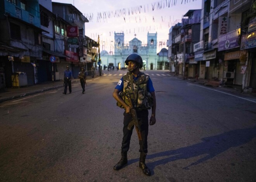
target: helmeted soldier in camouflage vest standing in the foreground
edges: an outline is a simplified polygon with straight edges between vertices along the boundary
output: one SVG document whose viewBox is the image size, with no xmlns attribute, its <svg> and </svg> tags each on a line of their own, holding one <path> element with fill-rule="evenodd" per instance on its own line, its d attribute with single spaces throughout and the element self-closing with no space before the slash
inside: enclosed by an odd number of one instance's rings
<svg viewBox="0 0 256 182">
<path fill-rule="evenodd" d="M 156 123 L 156 96 L 155 90 L 151 79 L 148 75 L 140 72 L 140 68 L 143 66 L 142 58 L 139 54 L 130 54 L 125 61 L 128 65 L 129 72 L 119 80 L 115 90 L 113 92 L 113 97 L 118 101 L 119 104 L 125 108 L 124 120 L 123 120 L 123 141 L 121 146 L 121 160 L 114 166 L 114 170 L 121 169 L 127 163 L 127 152 L 130 147 L 130 139 L 133 127 L 129 130 L 127 127 L 132 120 L 130 113 L 129 104 L 125 100 L 125 96 L 122 93 L 132 92 L 134 94 L 133 106 L 136 109 L 137 118 L 140 125 L 140 131 L 142 133 L 142 144 L 140 143 L 140 162 L 139 167 L 142 169 L 145 175 L 151 175 L 149 168 L 145 164 L 145 158 L 147 155 L 147 135 L 149 131 L 149 124 L 154 125 Z M 131 80 L 133 79 L 133 80 Z M 119 93 L 121 92 L 121 96 Z M 142 94 L 144 93 L 144 94 Z M 145 107 L 144 98 L 145 93 L 150 93 L 152 96 L 152 114 L 150 116 L 150 122 L 148 121 L 149 109 Z M 131 93 L 130 93 L 131 94 Z M 149 94 L 149 95 L 150 95 Z M 143 96 L 144 95 L 144 96 Z M 137 98 L 137 99 L 136 99 Z"/>
</svg>

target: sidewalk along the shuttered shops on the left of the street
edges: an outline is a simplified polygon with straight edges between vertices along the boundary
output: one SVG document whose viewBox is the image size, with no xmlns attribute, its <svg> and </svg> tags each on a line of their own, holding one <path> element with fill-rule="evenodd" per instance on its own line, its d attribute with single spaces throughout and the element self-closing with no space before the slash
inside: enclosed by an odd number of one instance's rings
<svg viewBox="0 0 256 182">
<path fill-rule="evenodd" d="M 76 79 L 73 78 L 71 82 L 72 83 L 80 82 L 80 80 L 77 78 Z M 64 89 L 63 80 L 58 80 L 54 82 L 44 82 L 44 83 L 39 83 L 36 85 L 27 86 L 27 87 L 3 88 L 3 89 L 0 89 L 0 103 L 5 102 L 7 100 L 17 99 L 20 97 L 33 95 L 40 92 L 61 88 L 61 87 L 63 87 Z"/>
</svg>

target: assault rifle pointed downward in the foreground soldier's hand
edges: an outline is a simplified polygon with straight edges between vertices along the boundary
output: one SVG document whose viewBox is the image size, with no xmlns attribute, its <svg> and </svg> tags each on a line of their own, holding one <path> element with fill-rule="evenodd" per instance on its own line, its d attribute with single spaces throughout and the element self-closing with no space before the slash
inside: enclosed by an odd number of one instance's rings
<svg viewBox="0 0 256 182">
<path fill-rule="evenodd" d="M 132 93 L 133 94 L 133 93 Z M 134 94 L 133 94 L 134 95 Z M 128 124 L 127 129 L 131 130 L 131 127 L 134 125 L 135 129 L 137 131 L 137 135 L 138 135 L 138 140 L 140 145 L 142 146 L 142 152 L 144 152 L 144 148 L 143 148 L 143 142 L 142 142 L 142 136 L 141 136 L 141 129 L 140 129 L 140 125 L 138 123 L 138 117 L 137 117 L 137 112 L 133 107 L 133 103 L 131 101 L 131 94 L 130 92 L 125 92 L 125 96 L 129 101 L 129 106 L 130 106 L 130 112 L 131 112 L 131 117 L 132 120 L 131 122 Z M 133 97 L 134 98 L 134 97 Z"/>
</svg>

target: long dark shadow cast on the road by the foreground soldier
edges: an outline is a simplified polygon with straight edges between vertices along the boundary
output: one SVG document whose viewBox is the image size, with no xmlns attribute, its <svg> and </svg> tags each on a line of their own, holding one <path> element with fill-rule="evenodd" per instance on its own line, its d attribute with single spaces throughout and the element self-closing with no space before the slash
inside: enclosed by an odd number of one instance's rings
<svg viewBox="0 0 256 182">
<path fill-rule="evenodd" d="M 256 126 L 253 128 L 246 129 L 236 129 L 233 131 L 228 131 L 226 133 L 218 134 L 216 136 L 210 136 L 207 138 L 202 138 L 201 143 L 195 145 L 187 146 L 184 148 L 179 148 L 176 150 L 163 151 L 159 153 L 154 153 L 147 155 L 147 159 L 154 159 L 157 157 L 167 157 L 154 162 L 146 163 L 150 169 L 154 169 L 157 165 L 166 164 L 175 160 L 193 158 L 196 156 L 206 155 L 203 158 L 191 163 L 189 166 L 183 169 L 189 169 L 190 166 L 202 163 L 214 156 L 228 150 L 231 147 L 236 147 L 243 145 L 253 138 L 256 137 Z M 138 162 L 137 159 L 129 160 L 129 164 Z"/>
</svg>

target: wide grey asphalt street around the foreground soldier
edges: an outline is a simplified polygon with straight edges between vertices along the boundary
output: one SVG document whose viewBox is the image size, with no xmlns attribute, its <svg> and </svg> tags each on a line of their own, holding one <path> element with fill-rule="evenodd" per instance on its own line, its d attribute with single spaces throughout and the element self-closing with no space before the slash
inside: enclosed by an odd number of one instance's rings
<svg viewBox="0 0 256 182">
<path fill-rule="evenodd" d="M 112 97 L 125 71 L 104 71 L 72 93 L 63 88 L 0 103 L 0 181 L 254 182 L 256 98 L 147 70 L 157 99 L 146 164 L 133 133 L 121 155 L 124 110 Z M 151 111 L 149 111 L 151 113 Z"/>
</svg>

